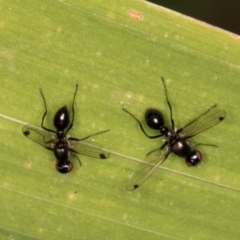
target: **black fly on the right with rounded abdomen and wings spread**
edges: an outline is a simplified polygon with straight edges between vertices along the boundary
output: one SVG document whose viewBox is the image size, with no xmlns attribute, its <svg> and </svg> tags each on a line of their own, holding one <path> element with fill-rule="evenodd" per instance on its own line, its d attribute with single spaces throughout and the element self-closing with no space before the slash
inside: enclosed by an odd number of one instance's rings
<svg viewBox="0 0 240 240">
<path fill-rule="evenodd" d="M 137 169 L 130 176 L 126 185 L 126 189 L 128 191 L 132 191 L 140 187 L 167 159 L 170 153 L 174 153 L 179 157 L 185 158 L 185 162 L 188 166 L 197 166 L 202 160 L 202 154 L 199 150 L 195 149 L 196 146 L 205 145 L 217 147 L 213 144 L 203 143 L 194 145 L 189 141 L 189 139 L 223 121 L 226 116 L 226 112 L 223 110 L 218 110 L 217 105 L 213 105 L 200 116 L 186 124 L 184 127 L 176 130 L 175 122 L 173 120 L 172 106 L 168 98 L 168 92 L 164 78 L 162 78 L 162 83 L 170 112 L 171 128 L 166 127 L 164 116 L 160 111 L 156 109 L 148 109 L 145 113 L 145 121 L 147 125 L 154 130 L 160 131 L 160 134 L 158 135 L 149 136 L 144 130 L 142 123 L 132 113 L 123 108 L 126 113 L 128 113 L 138 122 L 145 136 L 150 139 L 159 138 L 162 136 L 165 137 L 165 142 L 163 145 L 160 148 L 149 152 L 146 155 L 145 161 L 140 163 Z M 163 152 L 162 150 L 165 147 L 167 147 L 167 150 Z"/>
</svg>

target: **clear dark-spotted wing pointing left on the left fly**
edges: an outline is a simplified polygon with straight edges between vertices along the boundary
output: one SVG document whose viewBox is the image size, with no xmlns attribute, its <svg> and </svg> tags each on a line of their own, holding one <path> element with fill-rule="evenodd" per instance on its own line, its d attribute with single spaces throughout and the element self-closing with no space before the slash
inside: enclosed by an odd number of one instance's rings
<svg viewBox="0 0 240 240">
<path fill-rule="evenodd" d="M 52 143 L 56 138 L 56 135 L 54 133 L 38 129 L 30 125 L 23 126 L 22 132 L 32 141 L 50 150 L 52 149 Z"/>
</svg>

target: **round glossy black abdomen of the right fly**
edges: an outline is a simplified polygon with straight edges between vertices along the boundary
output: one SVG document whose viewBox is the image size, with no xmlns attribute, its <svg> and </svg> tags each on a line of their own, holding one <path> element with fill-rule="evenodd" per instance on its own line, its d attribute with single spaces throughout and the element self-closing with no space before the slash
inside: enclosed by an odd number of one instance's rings
<svg viewBox="0 0 240 240">
<path fill-rule="evenodd" d="M 155 130 L 159 130 L 164 125 L 163 114 L 156 109 L 149 109 L 145 113 L 145 121 L 147 125 Z"/>
</svg>

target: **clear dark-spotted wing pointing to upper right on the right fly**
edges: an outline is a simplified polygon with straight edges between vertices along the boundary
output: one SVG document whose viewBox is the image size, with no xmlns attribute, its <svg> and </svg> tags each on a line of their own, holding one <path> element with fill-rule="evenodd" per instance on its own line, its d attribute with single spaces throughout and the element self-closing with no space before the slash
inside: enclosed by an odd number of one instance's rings
<svg viewBox="0 0 240 240">
<path fill-rule="evenodd" d="M 216 109 L 217 105 L 212 106 L 199 117 L 193 119 L 178 132 L 184 134 L 187 138 L 191 138 L 211 127 L 220 123 L 226 117 L 226 112 Z"/>
</svg>

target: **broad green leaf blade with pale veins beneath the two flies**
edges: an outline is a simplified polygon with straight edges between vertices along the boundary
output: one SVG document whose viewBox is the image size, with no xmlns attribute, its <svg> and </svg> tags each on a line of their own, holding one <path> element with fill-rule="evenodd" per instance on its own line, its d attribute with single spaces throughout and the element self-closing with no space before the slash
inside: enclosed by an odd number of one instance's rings
<svg viewBox="0 0 240 240">
<path fill-rule="evenodd" d="M 143 1 L 4 0 L 0 36 L 1 239 L 239 239 L 237 35 Z M 199 147 L 199 168 L 170 155 L 128 192 L 138 161 L 162 142 L 147 139 L 122 107 L 142 121 L 158 108 L 169 124 L 161 76 L 177 127 L 216 103 L 227 117 L 193 139 L 218 145 Z M 53 153 L 21 128 L 40 126 L 39 88 L 52 127 L 76 83 L 70 134 L 110 129 L 94 141 L 111 157 L 80 156 L 83 166 L 73 159 L 61 175 Z"/>
</svg>

